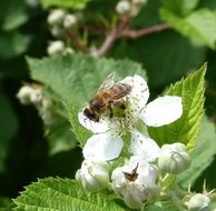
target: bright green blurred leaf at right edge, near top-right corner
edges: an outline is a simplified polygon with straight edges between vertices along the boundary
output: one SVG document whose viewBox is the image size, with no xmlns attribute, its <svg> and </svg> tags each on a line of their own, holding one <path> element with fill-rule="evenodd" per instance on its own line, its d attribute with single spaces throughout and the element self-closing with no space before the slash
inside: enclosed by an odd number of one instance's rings
<svg viewBox="0 0 216 211">
<path fill-rule="evenodd" d="M 216 47 L 216 13 L 199 9 L 181 18 L 167 9 L 160 11 L 161 18 L 179 33 L 212 49 Z"/>
</svg>

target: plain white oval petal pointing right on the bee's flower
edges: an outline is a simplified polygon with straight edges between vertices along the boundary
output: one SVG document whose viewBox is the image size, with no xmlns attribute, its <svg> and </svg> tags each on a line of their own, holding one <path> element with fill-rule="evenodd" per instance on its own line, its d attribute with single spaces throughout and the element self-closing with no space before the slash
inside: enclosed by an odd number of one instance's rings
<svg viewBox="0 0 216 211">
<path fill-rule="evenodd" d="M 160 127 L 176 121 L 181 114 L 181 98 L 166 96 L 148 103 L 141 119 L 147 125 Z"/>
</svg>

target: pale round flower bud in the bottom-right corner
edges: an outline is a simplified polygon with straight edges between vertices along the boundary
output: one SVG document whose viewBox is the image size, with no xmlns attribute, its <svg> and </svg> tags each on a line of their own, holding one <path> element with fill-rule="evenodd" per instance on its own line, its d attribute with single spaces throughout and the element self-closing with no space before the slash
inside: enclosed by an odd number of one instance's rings
<svg viewBox="0 0 216 211">
<path fill-rule="evenodd" d="M 208 211 L 210 210 L 210 199 L 202 193 L 197 193 L 187 202 L 188 211 Z"/>
</svg>

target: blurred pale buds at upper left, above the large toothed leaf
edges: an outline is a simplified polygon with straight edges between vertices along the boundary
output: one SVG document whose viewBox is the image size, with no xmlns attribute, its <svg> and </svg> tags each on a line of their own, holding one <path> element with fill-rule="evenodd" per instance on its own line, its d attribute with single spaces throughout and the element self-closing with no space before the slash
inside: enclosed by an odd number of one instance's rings
<svg viewBox="0 0 216 211">
<path fill-rule="evenodd" d="M 47 49 L 49 56 L 72 53 L 73 50 L 62 41 L 66 33 L 70 33 L 77 26 L 78 18 L 62 9 L 53 9 L 48 16 L 51 34 L 59 40 L 51 41 Z"/>
</svg>

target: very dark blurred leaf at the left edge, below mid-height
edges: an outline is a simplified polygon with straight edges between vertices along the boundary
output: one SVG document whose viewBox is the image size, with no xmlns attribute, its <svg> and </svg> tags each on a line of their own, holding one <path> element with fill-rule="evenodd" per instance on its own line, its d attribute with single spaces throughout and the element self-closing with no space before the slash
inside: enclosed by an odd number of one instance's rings
<svg viewBox="0 0 216 211">
<path fill-rule="evenodd" d="M 3 171 L 4 168 L 4 159 L 7 157 L 8 147 L 10 144 L 11 139 L 17 132 L 18 129 L 18 120 L 16 113 L 11 107 L 8 98 L 0 90 L 0 172 Z"/>
</svg>

